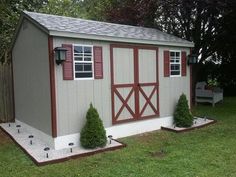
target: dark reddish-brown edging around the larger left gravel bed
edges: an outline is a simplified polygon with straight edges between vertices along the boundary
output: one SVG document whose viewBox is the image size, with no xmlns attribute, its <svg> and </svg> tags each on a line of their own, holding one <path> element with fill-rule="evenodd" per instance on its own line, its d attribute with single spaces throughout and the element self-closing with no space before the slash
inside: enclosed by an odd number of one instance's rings
<svg viewBox="0 0 236 177">
<path fill-rule="evenodd" d="M 70 159 L 77 159 L 77 158 L 81 158 L 81 157 L 86 157 L 86 156 L 90 156 L 90 155 L 94 155 L 94 154 L 98 154 L 98 153 L 101 153 L 101 152 L 106 152 L 106 151 L 114 151 L 114 150 L 118 150 L 118 149 L 122 149 L 124 147 L 126 147 L 127 145 L 116 140 L 116 139 L 113 139 L 113 141 L 116 141 L 118 143 L 120 143 L 121 145 L 119 146 L 115 146 L 115 147 L 109 147 L 109 148 L 105 148 L 105 149 L 98 149 L 96 151 L 92 151 L 92 152 L 86 152 L 86 153 L 83 153 L 83 154 L 75 154 L 75 155 L 72 155 L 72 156 L 69 156 L 69 157 L 64 157 L 64 158 L 60 158 L 60 159 L 54 159 L 54 160 L 50 160 L 50 161 L 46 161 L 46 162 L 38 162 L 33 156 L 31 156 L 24 147 L 22 147 L 19 143 L 17 143 L 17 141 L 6 131 L 4 130 L 4 128 L 2 128 L 0 126 L 0 129 L 7 135 L 11 138 L 11 140 L 16 144 L 18 145 L 22 151 L 28 155 L 30 157 L 30 159 L 35 163 L 35 165 L 37 166 L 44 166 L 44 165 L 49 165 L 49 164 L 54 164 L 54 163 L 60 163 L 60 162 L 65 162 L 65 161 L 68 161 Z"/>
</svg>

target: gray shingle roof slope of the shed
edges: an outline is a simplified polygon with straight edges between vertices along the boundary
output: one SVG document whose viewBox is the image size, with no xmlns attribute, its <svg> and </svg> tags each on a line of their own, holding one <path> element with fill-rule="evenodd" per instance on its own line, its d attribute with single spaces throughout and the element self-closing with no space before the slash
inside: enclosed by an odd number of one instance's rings
<svg viewBox="0 0 236 177">
<path fill-rule="evenodd" d="M 24 13 L 49 31 L 193 45 L 190 41 L 153 28 L 106 23 L 27 11 L 24 11 Z"/>
</svg>

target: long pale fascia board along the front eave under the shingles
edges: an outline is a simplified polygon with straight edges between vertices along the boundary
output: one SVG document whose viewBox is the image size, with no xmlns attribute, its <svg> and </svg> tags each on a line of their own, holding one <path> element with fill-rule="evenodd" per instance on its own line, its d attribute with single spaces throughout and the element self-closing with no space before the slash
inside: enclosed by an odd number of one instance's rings
<svg viewBox="0 0 236 177">
<path fill-rule="evenodd" d="M 61 31 L 49 31 L 49 35 L 58 36 L 58 37 L 70 37 L 70 38 L 79 38 L 79 39 L 109 41 L 109 42 L 124 42 L 124 43 L 134 43 L 134 44 L 163 45 L 163 46 L 177 46 L 177 47 L 194 47 L 193 42 L 189 42 L 189 43 L 164 42 L 164 41 L 152 41 L 152 40 L 145 40 L 145 39 L 141 40 L 141 39 L 131 39 L 131 38 L 98 36 L 98 35 L 90 35 L 90 34 L 78 34 L 78 33 L 61 32 Z"/>
</svg>

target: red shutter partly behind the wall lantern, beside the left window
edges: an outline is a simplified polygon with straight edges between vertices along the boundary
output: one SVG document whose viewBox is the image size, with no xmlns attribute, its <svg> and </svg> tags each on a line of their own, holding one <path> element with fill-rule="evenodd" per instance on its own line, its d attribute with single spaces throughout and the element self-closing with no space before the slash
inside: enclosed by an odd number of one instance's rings
<svg viewBox="0 0 236 177">
<path fill-rule="evenodd" d="M 63 62 L 63 79 L 73 80 L 73 46 L 72 44 L 62 44 L 66 48 L 66 60 Z"/>
</svg>

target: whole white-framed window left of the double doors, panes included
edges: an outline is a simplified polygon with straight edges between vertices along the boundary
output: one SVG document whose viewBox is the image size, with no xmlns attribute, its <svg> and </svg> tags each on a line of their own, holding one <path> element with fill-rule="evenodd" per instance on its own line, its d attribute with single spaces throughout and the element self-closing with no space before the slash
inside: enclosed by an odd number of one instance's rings
<svg viewBox="0 0 236 177">
<path fill-rule="evenodd" d="M 75 79 L 93 78 L 93 46 L 74 45 Z"/>
</svg>

